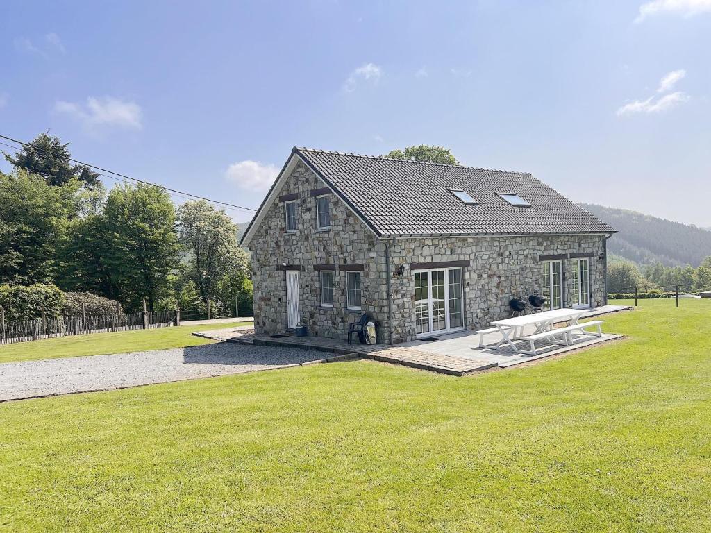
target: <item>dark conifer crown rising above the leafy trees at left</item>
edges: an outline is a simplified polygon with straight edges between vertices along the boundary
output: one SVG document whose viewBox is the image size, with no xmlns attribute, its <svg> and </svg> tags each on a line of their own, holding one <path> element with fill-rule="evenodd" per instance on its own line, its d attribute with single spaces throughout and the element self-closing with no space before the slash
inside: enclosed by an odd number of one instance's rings
<svg viewBox="0 0 711 533">
<path fill-rule="evenodd" d="M 15 156 L 4 154 L 15 168 L 42 176 L 50 185 L 64 185 L 77 178 L 86 188 L 95 188 L 101 183 L 99 174 L 86 165 L 73 166 L 68 146 L 69 143 L 63 144 L 59 137 L 43 133 L 18 150 Z"/>
</svg>

